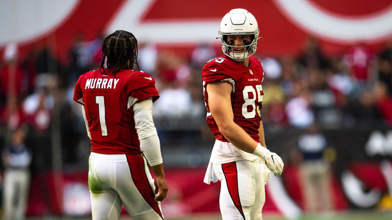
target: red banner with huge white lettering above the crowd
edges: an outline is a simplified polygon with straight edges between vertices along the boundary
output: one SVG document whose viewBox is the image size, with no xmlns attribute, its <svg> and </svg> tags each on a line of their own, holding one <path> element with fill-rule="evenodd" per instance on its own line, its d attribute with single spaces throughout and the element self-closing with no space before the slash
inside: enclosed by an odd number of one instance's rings
<svg viewBox="0 0 392 220">
<path fill-rule="evenodd" d="M 16 11 L 16 16 L 0 15 L 2 20 L 9 21 L 0 34 L 0 56 L 7 43 L 16 41 L 22 57 L 31 49 L 49 45 L 61 61 L 66 61 L 77 34 L 92 40 L 117 29 L 131 31 L 139 41 L 151 41 L 159 48 L 180 49 L 185 53 L 200 42 L 219 47 L 220 41 L 215 37 L 221 17 L 233 5 L 239 6 L 231 0 L 49 2 L 5 3 L 10 11 Z M 253 0 L 241 7 L 254 14 L 260 25 L 263 37 L 257 51 L 260 56 L 298 54 L 310 35 L 320 40 L 326 54 L 342 54 L 360 42 L 377 52 L 392 34 L 391 0 Z M 43 13 L 38 15 L 37 11 Z"/>
</svg>

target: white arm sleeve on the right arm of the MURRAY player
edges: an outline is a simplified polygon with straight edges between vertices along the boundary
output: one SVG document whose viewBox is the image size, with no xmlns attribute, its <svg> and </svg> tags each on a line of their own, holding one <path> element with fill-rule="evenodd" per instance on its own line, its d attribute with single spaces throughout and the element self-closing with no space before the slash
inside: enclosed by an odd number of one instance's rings
<svg viewBox="0 0 392 220">
<path fill-rule="evenodd" d="M 150 166 L 162 164 L 161 144 L 152 121 L 152 98 L 148 98 L 132 106 L 135 128 L 138 132 L 140 149 Z"/>
</svg>

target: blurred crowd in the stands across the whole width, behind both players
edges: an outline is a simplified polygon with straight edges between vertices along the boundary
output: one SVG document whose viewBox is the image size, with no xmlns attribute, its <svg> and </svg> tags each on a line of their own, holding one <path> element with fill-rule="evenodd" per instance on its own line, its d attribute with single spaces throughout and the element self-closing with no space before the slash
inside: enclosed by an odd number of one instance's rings
<svg viewBox="0 0 392 220">
<path fill-rule="evenodd" d="M 66 61 L 57 60 L 51 48 L 32 50 L 21 60 L 18 45 L 7 45 L 0 64 L 0 146 L 7 146 L 9 134 L 24 127 L 37 169 L 56 162 L 72 166 L 89 154 L 73 91 L 81 74 L 98 69 L 102 41 L 102 36 L 89 41 L 82 34 L 75 36 Z M 211 140 L 200 71 L 206 61 L 221 56 L 217 46 L 199 43 L 184 56 L 139 40 L 138 65 L 156 79 L 161 96 L 153 115 L 163 145 L 166 139 L 178 138 L 167 131 L 190 130 L 196 132 L 194 139 Z M 259 49 L 256 56 L 264 68 L 266 132 L 315 124 L 323 129 L 392 125 L 392 40 L 377 53 L 358 43 L 345 54 L 325 56 L 312 37 L 298 56 L 261 57 L 261 53 Z M 52 158 L 54 145 L 61 146 L 61 160 Z"/>
</svg>

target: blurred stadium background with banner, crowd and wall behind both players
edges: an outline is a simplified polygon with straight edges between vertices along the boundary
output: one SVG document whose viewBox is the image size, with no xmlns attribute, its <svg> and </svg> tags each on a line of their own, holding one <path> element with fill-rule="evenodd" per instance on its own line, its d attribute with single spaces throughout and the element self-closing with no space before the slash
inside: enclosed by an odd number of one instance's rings
<svg viewBox="0 0 392 220">
<path fill-rule="evenodd" d="M 80 108 L 72 101 L 73 85 L 80 74 L 97 68 L 102 37 L 117 29 L 135 34 L 139 65 L 156 78 L 160 90 L 154 120 L 170 187 L 164 215 L 216 215 L 220 186 L 202 182 L 214 139 L 205 125 L 200 69 L 221 54 L 215 39 L 221 17 L 243 7 L 254 14 L 263 37 L 256 56 L 265 68 L 266 143 L 285 162 L 282 177 L 271 177 L 267 185 L 263 214 L 296 219 L 309 212 L 304 191 L 310 189 L 304 189 L 300 177 L 305 160 L 316 154 L 304 152 L 299 140 L 316 124 L 327 139 L 317 153 L 331 174 L 327 190 L 314 191 L 327 194 L 331 205 L 321 202 L 316 213 L 382 211 L 391 217 L 392 1 L 291 2 L 296 4 L 0 0 L 0 67 L 7 67 L 13 55 L 18 58 L 13 71 L 3 69 L 0 75 L 15 76 L 17 97 L 8 105 L 4 88 L 9 85 L 0 82 L 0 146 L 9 141 L 13 126 L 29 126 L 28 216 L 91 212 L 89 141 Z"/>
</svg>

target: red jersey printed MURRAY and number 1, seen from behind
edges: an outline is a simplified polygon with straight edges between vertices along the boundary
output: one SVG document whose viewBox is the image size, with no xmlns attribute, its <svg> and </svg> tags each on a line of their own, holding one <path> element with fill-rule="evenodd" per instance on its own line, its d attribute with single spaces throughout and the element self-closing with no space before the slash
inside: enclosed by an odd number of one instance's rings
<svg viewBox="0 0 392 220">
<path fill-rule="evenodd" d="M 120 70 L 113 77 L 106 69 L 79 77 L 74 101 L 84 105 L 91 133 L 91 151 L 104 154 L 140 153 L 132 106 L 152 97 L 159 98 L 150 74 L 131 69 Z"/>
</svg>

